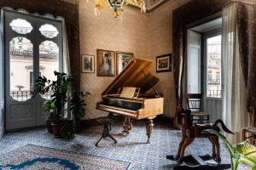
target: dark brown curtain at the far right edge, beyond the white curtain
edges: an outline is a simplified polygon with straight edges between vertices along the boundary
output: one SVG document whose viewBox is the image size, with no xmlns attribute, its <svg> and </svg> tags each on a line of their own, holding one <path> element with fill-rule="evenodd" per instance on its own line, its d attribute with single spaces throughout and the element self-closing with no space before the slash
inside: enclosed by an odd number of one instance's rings
<svg viewBox="0 0 256 170">
<path fill-rule="evenodd" d="M 241 69 L 247 87 L 247 109 L 256 99 L 256 1 L 236 3 L 237 29 L 241 54 Z"/>
</svg>

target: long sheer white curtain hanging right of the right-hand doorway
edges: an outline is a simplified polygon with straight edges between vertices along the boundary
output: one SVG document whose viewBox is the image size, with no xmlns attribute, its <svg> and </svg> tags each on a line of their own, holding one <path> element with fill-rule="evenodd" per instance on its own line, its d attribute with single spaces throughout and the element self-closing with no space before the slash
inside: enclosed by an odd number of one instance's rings
<svg viewBox="0 0 256 170">
<path fill-rule="evenodd" d="M 246 88 L 241 71 L 238 35 L 236 29 L 236 3 L 223 11 L 223 120 L 235 135 L 226 134 L 231 143 L 241 140 L 241 128 L 247 126 Z"/>
</svg>

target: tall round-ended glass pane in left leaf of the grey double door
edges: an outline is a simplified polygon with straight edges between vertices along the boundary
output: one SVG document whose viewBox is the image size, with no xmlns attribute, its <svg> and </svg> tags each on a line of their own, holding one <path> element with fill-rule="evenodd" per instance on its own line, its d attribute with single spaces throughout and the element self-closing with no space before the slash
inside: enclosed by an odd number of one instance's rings
<svg viewBox="0 0 256 170">
<path fill-rule="evenodd" d="M 10 96 L 26 101 L 32 96 L 33 44 L 26 37 L 15 37 L 9 42 Z"/>
</svg>

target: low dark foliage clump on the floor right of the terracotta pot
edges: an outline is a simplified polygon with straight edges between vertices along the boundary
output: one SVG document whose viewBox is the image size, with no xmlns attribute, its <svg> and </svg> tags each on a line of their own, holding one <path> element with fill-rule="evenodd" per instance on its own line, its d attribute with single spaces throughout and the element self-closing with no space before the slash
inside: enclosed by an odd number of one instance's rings
<svg viewBox="0 0 256 170">
<path fill-rule="evenodd" d="M 73 120 L 64 119 L 61 121 L 61 137 L 63 139 L 73 139 L 75 137 L 75 125 Z"/>
</svg>

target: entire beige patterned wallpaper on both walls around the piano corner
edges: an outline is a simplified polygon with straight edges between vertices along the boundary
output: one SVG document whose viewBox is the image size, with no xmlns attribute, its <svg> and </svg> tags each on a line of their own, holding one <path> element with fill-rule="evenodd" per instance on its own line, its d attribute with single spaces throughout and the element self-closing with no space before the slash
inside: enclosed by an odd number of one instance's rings
<svg viewBox="0 0 256 170">
<path fill-rule="evenodd" d="M 96 55 L 96 48 L 134 53 L 137 58 L 152 59 L 161 54 L 172 53 L 172 10 L 189 2 L 173 0 L 150 14 L 125 8 L 123 20 L 112 17 L 109 8 L 100 15 L 94 13 L 94 1 L 79 2 L 79 31 L 81 54 Z M 96 58 L 95 58 L 96 59 Z M 176 99 L 172 72 L 152 73 L 160 78 L 157 88 L 165 97 L 165 116 L 174 116 Z M 96 77 L 96 72 L 81 73 L 81 88 L 90 92 L 86 99 L 86 118 L 107 116 L 95 109 L 101 94 L 113 82 L 114 77 Z"/>
</svg>

